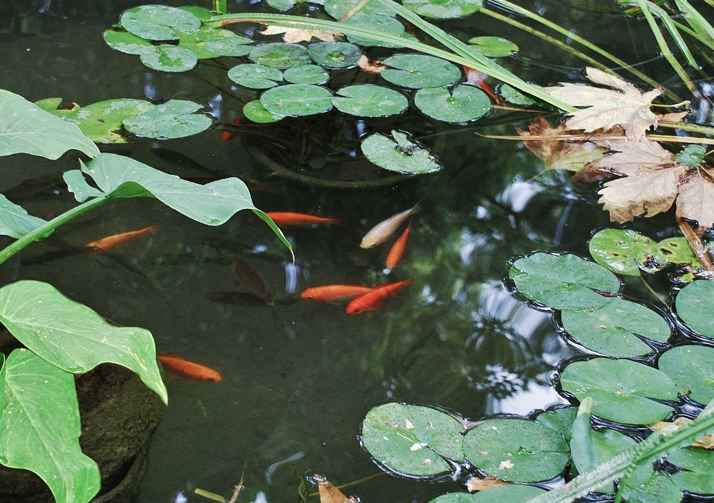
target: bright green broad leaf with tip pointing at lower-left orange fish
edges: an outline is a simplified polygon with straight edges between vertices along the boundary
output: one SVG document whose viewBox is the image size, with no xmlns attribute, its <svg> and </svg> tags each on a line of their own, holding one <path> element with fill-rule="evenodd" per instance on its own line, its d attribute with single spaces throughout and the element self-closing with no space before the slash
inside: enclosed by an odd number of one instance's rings
<svg viewBox="0 0 714 503">
<path fill-rule="evenodd" d="M 52 285 L 33 280 L 0 288 L 0 320 L 17 340 L 62 370 L 80 373 L 116 363 L 168 400 L 149 330 L 110 325 Z"/>
</svg>

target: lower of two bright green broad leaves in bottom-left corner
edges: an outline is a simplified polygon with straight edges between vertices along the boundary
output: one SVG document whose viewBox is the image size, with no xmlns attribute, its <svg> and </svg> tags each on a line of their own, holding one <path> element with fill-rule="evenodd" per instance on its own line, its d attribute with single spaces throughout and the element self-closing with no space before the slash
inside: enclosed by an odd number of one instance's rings
<svg viewBox="0 0 714 503">
<path fill-rule="evenodd" d="M 58 503 L 89 502 L 101 481 L 80 434 L 74 376 L 24 348 L 11 352 L 0 370 L 0 463 L 38 474 Z"/>
</svg>

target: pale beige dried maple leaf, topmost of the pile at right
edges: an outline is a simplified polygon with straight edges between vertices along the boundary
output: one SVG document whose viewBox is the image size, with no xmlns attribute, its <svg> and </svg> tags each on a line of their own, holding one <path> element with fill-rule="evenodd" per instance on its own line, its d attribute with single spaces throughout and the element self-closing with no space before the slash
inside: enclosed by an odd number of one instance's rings
<svg viewBox="0 0 714 503">
<path fill-rule="evenodd" d="M 643 94 L 631 83 L 597 68 L 588 68 L 588 78 L 616 90 L 573 83 L 545 88 L 553 98 L 573 106 L 587 107 L 569 113 L 571 117 L 565 122 L 566 128 L 590 132 L 619 124 L 625 128 L 625 135 L 637 143 L 650 126 L 657 126 L 657 116 L 650 111 L 650 103 L 662 93 L 660 89 Z"/>
</svg>

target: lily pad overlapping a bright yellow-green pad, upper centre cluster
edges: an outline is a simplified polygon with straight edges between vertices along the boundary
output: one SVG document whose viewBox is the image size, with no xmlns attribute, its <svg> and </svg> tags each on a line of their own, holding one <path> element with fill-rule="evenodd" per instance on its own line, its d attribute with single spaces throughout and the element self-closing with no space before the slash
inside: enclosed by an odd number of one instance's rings
<svg viewBox="0 0 714 503">
<path fill-rule="evenodd" d="M 309 84 L 288 84 L 268 89 L 261 95 L 267 111 L 283 116 L 311 116 L 332 108 L 329 89 Z"/>
</svg>

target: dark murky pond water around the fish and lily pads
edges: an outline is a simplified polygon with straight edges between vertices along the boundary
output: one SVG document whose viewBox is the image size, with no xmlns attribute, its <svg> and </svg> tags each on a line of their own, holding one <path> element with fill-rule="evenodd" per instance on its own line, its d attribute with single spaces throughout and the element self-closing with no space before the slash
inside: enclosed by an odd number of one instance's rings
<svg viewBox="0 0 714 503">
<path fill-rule="evenodd" d="M 240 103 L 221 92 L 230 83 L 215 66 L 204 63 L 189 73 L 161 73 L 104 44 L 101 32 L 118 21 L 123 9 L 141 4 L 4 3 L 0 88 L 30 101 L 61 97 L 81 105 L 109 98 L 179 97 L 210 103 L 219 121 L 231 123 Z M 591 11 L 564 7 L 568 3 L 562 1 L 522 4 L 614 50 L 623 46 L 631 52 L 622 56 L 632 61 L 654 56 L 646 29 L 635 21 L 625 23 L 605 12 L 595 22 Z M 251 6 L 231 5 L 229 11 L 241 8 Z M 523 41 L 521 54 L 508 65 L 526 80 L 562 81 L 583 66 L 488 18 L 471 16 L 453 21 L 448 29 L 461 39 L 498 34 L 517 44 Z M 631 40 L 622 39 L 625 32 Z M 648 73 L 657 78 L 660 68 L 660 61 L 651 62 Z M 593 187 L 575 186 L 558 173 L 527 183 L 541 164 L 521 143 L 476 136 L 513 134 L 516 127 L 526 128 L 530 118 L 500 113 L 468 127 L 446 126 L 412 111 L 408 123 L 368 123 L 374 131 L 411 131 L 444 168 L 361 190 L 274 176 L 246 150 L 282 147 L 288 158 L 338 151 L 336 131 L 346 138 L 357 131 L 355 121 L 338 113 L 265 126 L 241 124 L 245 131 L 229 141 L 213 129 L 178 140 L 101 146 L 186 178 L 237 176 L 253 184 L 253 202 L 262 210 L 313 213 L 346 223 L 286 229 L 296 254 L 293 264 L 286 248 L 253 213 L 238 213 L 212 228 L 156 200 L 122 200 L 56 234 L 81 245 L 148 225 L 161 228 L 96 256 L 41 260 L 56 245 L 51 240 L 36 243 L 0 268 L 1 281 L 48 281 L 121 325 L 148 328 L 159 352 L 221 372 L 221 382 L 169 381 L 170 406 L 156 432 L 141 502 L 173 502 L 178 492 L 190 502 L 207 501 L 193 494 L 196 487 L 228 496 L 244 466 L 242 501 L 294 501 L 293 467 L 301 474 L 323 474 L 335 484 L 379 472 L 358 442 L 363 417 L 376 405 L 438 405 L 476 419 L 494 413 L 526 415 L 563 402 L 549 378 L 553 366 L 576 351 L 555 332 L 549 313 L 528 308 L 502 280 L 508 260 L 532 250 L 586 255 L 591 231 L 608 219 L 595 204 Z M 328 135 L 335 138 L 321 143 Z M 323 152 L 305 153 L 305 146 Z M 77 168 L 74 153 L 59 161 L 11 156 L 3 163 L 3 193 L 23 181 Z M 56 181 L 16 192 L 11 200 L 42 218 L 76 204 Z M 388 245 L 362 250 L 358 244 L 373 225 L 416 203 L 420 210 L 413 216 L 404 258 L 386 275 Z M 655 219 L 645 225 L 661 228 L 664 222 Z M 274 308 L 207 298 L 214 292 L 247 291 L 236 283 L 228 263 L 215 260 L 221 258 L 218 245 L 226 246 L 226 241 L 263 278 L 278 299 Z M 6 243 L 9 239 L 0 244 Z M 403 295 L 389 298 L 384 310 L 359 315 L 348 315 L 340 305 L 299 298 L 302 290 L 316 285 L 376 285 L 406 278 L 414 283 Z M 426 502 L 458 487 L 381 477 L 353 493 L 365 502 Z"/>
</svg>

